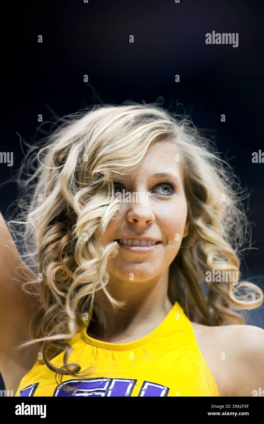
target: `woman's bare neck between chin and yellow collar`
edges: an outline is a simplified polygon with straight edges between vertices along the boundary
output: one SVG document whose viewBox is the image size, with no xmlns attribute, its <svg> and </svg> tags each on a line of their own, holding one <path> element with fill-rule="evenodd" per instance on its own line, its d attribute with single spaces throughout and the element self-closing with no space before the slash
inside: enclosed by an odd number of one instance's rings
<svg viewBox="0 0 264 424">
<path fill-rule="evenodd" d="M 147 282 L 110 278 L 108 293 L 124 307 L 113 307 L 103 290 L 96 293 L 87 334 L 109 343 L 128 343 L 156 329 L 172 308 L 167 296 L 168 270 Z"/>
</svg>

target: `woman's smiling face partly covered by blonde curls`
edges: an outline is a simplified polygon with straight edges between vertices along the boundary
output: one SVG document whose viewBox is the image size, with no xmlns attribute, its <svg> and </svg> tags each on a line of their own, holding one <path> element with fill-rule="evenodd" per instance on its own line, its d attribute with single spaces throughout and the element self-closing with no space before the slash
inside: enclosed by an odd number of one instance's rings
<svg viewBox="0 0 264 424">
<path fill-rule="evenodd" d="M 188 236 L 183 170 L 175 161 L 176 153 L 175 142 L 155 143 L 133 175 L 114 183 L 116 192 L 130 192 L 131 199 L 125 195 L 118 214 L 100 234 L 103 244 L 119 243 L 117 256 L 107 262 L 110 278 L 130 281 L 132 273 L 134 281 L 144 282 L 157 277 L 170 266 L 183 237 Z M 133 192 L 141 192 L 142 199 L 135 195 L 133 201 Z"/>
</svg>

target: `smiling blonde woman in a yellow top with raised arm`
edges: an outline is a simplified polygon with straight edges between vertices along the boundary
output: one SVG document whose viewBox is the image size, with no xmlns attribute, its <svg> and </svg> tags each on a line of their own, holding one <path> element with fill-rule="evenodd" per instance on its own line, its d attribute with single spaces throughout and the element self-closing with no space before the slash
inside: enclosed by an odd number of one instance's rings
<svg viewBox="0 0 264 424">
<path fill-rule="evenodd" d="M 15 243 L 1 226 L 6 390 L 264 389 L 264 330 L 238 312 L 263 301 L 239 280 L 248 237 L 239 185 L 189 121 L 155 105 L 94 106 L 47 137 L 25 188 L 23 215 L 9 223 Z"/>
</svg>

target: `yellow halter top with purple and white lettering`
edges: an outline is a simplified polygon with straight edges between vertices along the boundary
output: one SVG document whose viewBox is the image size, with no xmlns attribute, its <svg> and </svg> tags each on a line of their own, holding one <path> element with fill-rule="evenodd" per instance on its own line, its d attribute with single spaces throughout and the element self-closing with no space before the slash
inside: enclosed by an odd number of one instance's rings
<svg viewBox="0 0 264 424">
<path fill-rule="evenodd" d="M 153 332 L 130 343 L 95 340 L 87 335 L 88 326 L 67 340 L 74 349 L 68 362 L 82 370 L 95 365 L 94 374 L 86 379 L 65 375 L 63 385 L 57 385 L 55 373 L 36 360 L 15 396 L 220 396 L 178 302 Z M 63 353 L 51 363 L 61 366 L 62 358 Z"/>
</svg>

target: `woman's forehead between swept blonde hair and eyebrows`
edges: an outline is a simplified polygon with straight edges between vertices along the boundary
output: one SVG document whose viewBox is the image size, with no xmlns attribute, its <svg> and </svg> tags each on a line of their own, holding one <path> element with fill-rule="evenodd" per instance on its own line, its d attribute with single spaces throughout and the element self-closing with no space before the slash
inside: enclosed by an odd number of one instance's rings
<svg viewBox="0 0 264 424">
<path fill-rule="evenodd" d="M 154 173 L 173 173 L 183 179 L 181 153 L 177 141 L 170 139 L 154 142 L 148 148 L 142 161 L 135 167 L 134 173 L 151 176 Z"/>
</svg>

